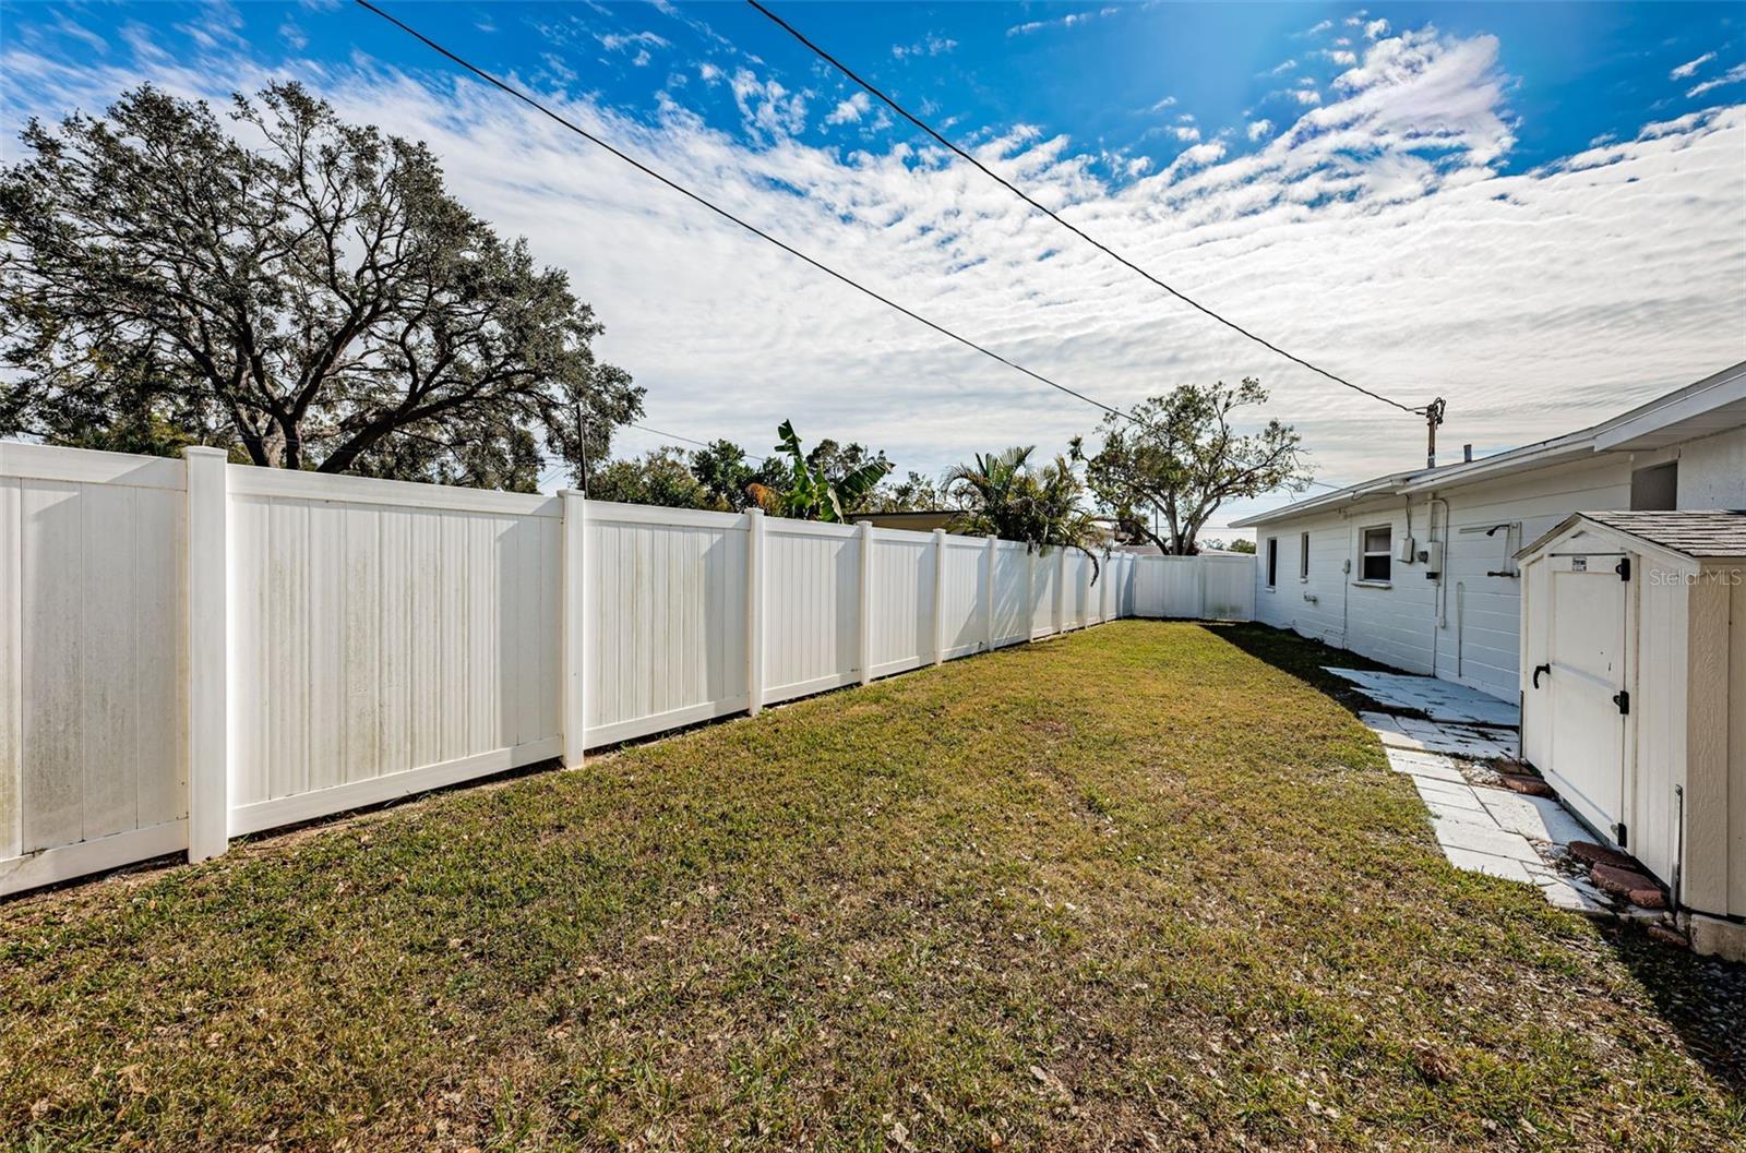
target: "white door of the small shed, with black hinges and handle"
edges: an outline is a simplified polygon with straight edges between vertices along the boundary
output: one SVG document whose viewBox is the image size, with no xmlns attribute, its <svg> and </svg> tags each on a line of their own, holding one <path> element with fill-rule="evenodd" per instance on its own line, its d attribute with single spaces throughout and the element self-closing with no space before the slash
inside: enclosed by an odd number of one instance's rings
<svg viewBox="0 0 1746 1153">
<path fill-rule="evenodd" d="M 1619 843 L 1626 794 L 1626 612 L 1617 555 L 1550 556 L 1550 755 L 1564 801 Z"/>
</svg>

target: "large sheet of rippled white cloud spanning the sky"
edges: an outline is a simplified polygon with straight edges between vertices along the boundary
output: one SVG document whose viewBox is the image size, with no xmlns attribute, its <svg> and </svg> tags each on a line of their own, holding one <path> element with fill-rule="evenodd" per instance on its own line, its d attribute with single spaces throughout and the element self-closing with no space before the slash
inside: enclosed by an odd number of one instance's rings
<svg viewBox="0 0 1746 1153">
<path fill-rule="evenodd" d="M 463 202 L 567 269 L 606 324 L 599 356 L 650 389 L 655 427 L 761 452 L 793 417 L 808 440 L 859 440 L 899 467 L 938 473 L 1009 443 L 1055 454 L 1095 424 L 1090 408 L 883 310 L 464 77 L 365 58 L 281 66 L 234 45 L 183 59 L 140 44 L 133 65 L 115 63 L 119 47 L 100 61 L 0 49 L 3 122 L 103 106 L 143 78 L 222 99 L 297 75 L 347 119 L 430 141 Z M 1276 344 L 1409 403 L 1447 396 L 1451 443 L 1564 433 L 1741 358 L 1746 106 L 1505 174 L 1514 113 L 1496 40 L 1402 31 L 1365 49 L 1322 106 L 1275 117 L 1264 140 L 1252 122 L 1257 147 L 1238 155 L 1210 140 L 1163 169 L 1112 167 L 1030 127 L 978 155 Z M 1184 380 L 1254 373 L 1273 389 L 1268 415 L 1297 424 L 1323 480 L 1423 457 L 1418 422 L 1147 288 L 969 166 L 903 143 L 847 155 L 812 147 L 793 134 L 805 92 L 751 70 L 735 73 L 733 92 L 751 143 L 677 105 L 646 120 L 587 96 L 552 99 L 751 223 L 1063 384 L 1126 405 Z M 0 134 L 0 157 L 16 152 Z M 1056 256 L 1039 265 L 1046 251 Z M 639 433 L 618 445 L 643 447 Z"/>
</svg>

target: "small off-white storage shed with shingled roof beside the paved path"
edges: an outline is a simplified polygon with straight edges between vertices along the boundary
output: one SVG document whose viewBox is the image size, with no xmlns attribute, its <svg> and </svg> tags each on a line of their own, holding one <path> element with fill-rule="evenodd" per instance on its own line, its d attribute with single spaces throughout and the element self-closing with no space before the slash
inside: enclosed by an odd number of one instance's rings
<svg viewBox="0 0 1746 1153">
<path fill-rule="evenodd" d="M 1523 755 L 1746 959 L 1746 513 L 1577 513 L 1517 558 Z"/>
</svg>

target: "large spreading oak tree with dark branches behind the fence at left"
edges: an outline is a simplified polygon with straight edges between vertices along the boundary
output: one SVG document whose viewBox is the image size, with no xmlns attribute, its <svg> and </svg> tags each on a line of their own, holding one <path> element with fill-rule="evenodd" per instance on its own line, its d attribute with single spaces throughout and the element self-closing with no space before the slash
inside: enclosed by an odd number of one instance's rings
<svg viewBox="0 0 1746 1153">
<path fill-rule="evenodd" d="M 0 434 L 531 490 L 643 391 L 423 143 L 295 84 L 31 120 L 0 169 Z"/>
</svg>

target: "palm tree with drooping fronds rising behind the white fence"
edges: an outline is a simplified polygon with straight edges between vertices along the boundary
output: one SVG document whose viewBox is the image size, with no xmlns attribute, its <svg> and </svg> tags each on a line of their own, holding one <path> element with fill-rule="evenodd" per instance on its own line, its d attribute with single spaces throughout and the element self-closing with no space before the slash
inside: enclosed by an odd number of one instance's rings
<svg viewBox="0 0 1746 1153">
<path fill-rule="evenodd" d="M 1027 445 L 978 452 L 974 464 L 946 473 L 946 492 L 962 509 L 955 523 L 962 532 L 1023 541 L 1044 553 L 1077 548 L 1091 558 L 1095 584 L 1103 530 L 1079 502 L 1084 487 L 1065 457 L 1055 457 L 1041 469 L 1032 467 L 1030 454 L 1035 450 L 1035 445 Z"/>
</svg>

